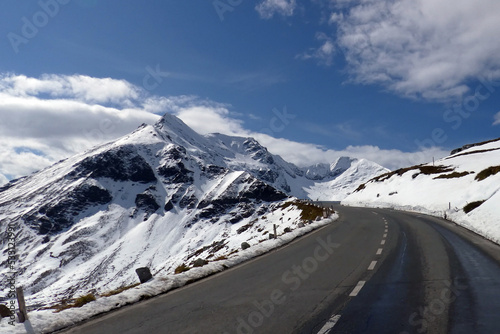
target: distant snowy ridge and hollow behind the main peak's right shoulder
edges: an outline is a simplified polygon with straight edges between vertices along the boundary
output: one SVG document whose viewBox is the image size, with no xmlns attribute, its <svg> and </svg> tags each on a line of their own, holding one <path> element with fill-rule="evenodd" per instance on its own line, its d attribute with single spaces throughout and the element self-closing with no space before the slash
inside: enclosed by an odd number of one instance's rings
<svg viewBox="0 0 500 334">
<path fill-rule="evenodd" d="M 211 134 L 209 139 L 234 170 L 244 170 L 259 180 L 298 198 L 340 201 L 360 184 L 389 170 L 368 160 L 340 157 L 332 164 L 299 168 L 271 154 L 253 138 Z"/>
</svg>

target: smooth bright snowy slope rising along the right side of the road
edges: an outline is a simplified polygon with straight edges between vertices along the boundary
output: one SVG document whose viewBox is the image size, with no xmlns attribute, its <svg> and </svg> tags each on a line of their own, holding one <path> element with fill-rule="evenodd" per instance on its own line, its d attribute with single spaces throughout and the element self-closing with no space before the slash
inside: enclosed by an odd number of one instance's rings
<svg viewBox="0 0 500 334">
<path fill-rule="evenodd" d="M 446 216 L 500 243 L 500 139 L 372 179 L 342 201 Z M 465 209 L 465 210 L 464 210 Z"/>
</svg>

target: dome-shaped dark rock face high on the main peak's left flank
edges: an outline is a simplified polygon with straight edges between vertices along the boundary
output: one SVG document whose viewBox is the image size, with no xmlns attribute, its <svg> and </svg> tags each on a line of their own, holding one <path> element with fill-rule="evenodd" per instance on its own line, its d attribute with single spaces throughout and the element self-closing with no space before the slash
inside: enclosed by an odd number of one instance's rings
<svg viewBox="0 0 500 334">
<path fill-rule="evenodd" d="M 131 146 L 122 146 L 88 157 L 76 166 L 70 176 L 110 178 L 114 181 L 150 183 L 156 176 L 146 160 Z"/>
</svg>

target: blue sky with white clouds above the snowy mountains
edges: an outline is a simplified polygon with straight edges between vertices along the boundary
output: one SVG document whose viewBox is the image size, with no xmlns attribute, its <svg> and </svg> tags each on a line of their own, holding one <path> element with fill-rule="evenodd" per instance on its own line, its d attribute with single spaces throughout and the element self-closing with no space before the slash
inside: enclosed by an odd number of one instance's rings
<svg viewBox="0 0 500 334">
<path fill-rule="evenodd" d="M 298 164 L 428 161 L 498 137 L 499 10 L 496 0 L 4 0 L 0 174 L 165 111 L 200 132 L 253 135 Z"/>
</svg>

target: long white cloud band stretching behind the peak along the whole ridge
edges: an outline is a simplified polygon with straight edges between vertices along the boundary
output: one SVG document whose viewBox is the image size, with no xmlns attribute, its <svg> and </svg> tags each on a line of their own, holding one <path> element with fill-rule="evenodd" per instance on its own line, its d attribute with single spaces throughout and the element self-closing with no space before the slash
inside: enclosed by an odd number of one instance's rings
<svg viewBox="0 0 500 334">
<path fill-rule="evenodd" d="M 165 112 L 177 115 L 202 134 L 220 132 L 254 137 L 272 153 L 301 166 L 332 162 L 339 156 L 349 155 L 397 168 L 444 155 L 437 148 L 414 153 L 381 150 L 375 146 L 328 150 L 250 131 L 245 128 L 242 115 L 231 111 L 227 104 L 196 96 L 152 96 L 121 80 L 81 78 L 0 76 L 0 184 L 5 178 L 28 175 L 119 138 L 142 123 L 152 124 L 159 119 L 158 114 Z M 79 84 L 68 84 L 75 81 Z M 88 82 L 98 83 L 102 91 L 96 92 L 94 87 L 85 84 Z"/>
</svg>

